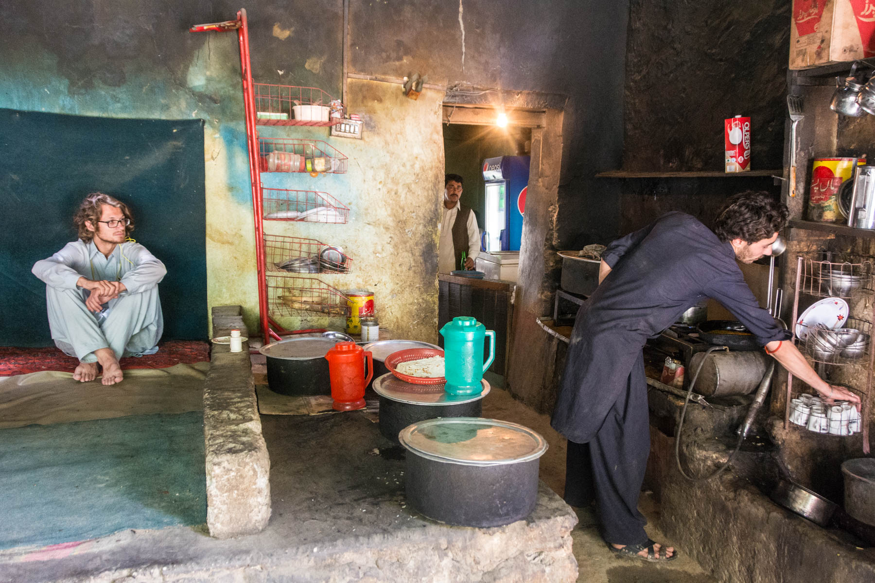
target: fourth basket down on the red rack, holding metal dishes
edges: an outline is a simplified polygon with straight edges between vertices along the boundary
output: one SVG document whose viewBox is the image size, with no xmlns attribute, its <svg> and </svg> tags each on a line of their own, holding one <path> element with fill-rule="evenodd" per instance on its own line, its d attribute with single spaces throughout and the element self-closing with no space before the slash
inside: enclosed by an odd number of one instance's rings
<svg viewBox="0 0 875 583">
<path fill-rule="evenodd" d="M 317 239 L 264 235 L 264 262 L 269 272 L 292 274 L 348 274 L 353 258 L 343 248 Z"/>
</svg>

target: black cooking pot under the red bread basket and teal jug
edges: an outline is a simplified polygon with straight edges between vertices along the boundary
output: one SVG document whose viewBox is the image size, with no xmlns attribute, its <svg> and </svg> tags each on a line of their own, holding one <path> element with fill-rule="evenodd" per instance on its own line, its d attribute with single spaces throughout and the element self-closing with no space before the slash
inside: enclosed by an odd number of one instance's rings
<svg viewBox="0 0 875 583">
<path fill-rule="evenodd" d="M 376 364 L 374 364 L 376 370 Z M 478 395 L 451 395 L 444 385 L 413 385 L 389 372 L 374 379 L 380 397 L 380 433 L 398 443 L 398 433 L 411 423 L 436 417 L 479 417 L 489 383 L 480 381 Z"/>
</svg>

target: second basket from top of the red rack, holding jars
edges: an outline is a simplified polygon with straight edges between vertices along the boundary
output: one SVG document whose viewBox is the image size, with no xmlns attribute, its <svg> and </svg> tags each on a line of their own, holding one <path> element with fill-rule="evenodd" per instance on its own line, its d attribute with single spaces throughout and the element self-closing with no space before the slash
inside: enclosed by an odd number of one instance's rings
<svg viewBox="0 0 875 583">
<path fill-rule="evenodd" d="M 258 138 L 262 172 L 346 174 L 346 156 L 323 140 Z"/>
</svg>

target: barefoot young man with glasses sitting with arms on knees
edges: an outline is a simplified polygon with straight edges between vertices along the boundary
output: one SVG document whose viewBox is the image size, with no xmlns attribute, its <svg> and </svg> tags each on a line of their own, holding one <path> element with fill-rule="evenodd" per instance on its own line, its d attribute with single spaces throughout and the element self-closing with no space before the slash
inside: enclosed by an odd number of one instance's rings
<svg viewBox="0 0 875 583">
<path fill-rule="evenodd" d="M 158 282 L 167 269 L 128 235 L 127 205 L 102 192 L 82 201 L 73 216 L 79 239 L 37 261 L 31 271 L 45 281 L 52 339 L 79 358 L 73 378 L 88 382 L 103 369 L 102 383 L 123 378 L 118 359 L 158 351 L 164 317 Z"/>
</svg>

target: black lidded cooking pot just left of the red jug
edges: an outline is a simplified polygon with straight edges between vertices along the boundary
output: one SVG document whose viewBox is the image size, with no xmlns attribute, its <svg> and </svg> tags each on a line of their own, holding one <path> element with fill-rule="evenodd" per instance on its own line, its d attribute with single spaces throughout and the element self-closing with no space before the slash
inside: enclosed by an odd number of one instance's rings
<svg viewBox="0 0 875 583">
<path fill-rule="evenodd" d="M 297 337 L 262 346 L 268 359 L 268 385 L 282 395 L 330 395 L 325 354 L 337 338 Z"/>
</svg>

